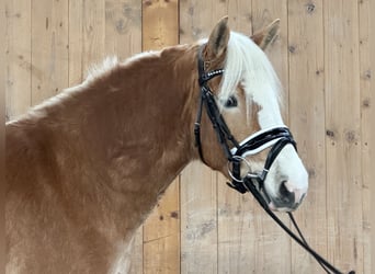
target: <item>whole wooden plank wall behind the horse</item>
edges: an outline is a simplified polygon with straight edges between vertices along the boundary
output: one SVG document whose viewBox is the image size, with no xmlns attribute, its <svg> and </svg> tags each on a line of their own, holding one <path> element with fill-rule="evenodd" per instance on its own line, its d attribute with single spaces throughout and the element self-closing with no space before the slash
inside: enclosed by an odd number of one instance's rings
<svg viewBox="0 0 375 274">
<path fill-rule="evenodd" d="M 280 18 L 268 55 L 310 174 L 296 218 L 318 252 L 370 274 L 370 1 L 5 0 L 7 118 L 79 83 L 104 56 L 191 43 L 226 14 L 248 34 Z M 190 164 L 139 228 L 132 273 L 322 273 L 250 195 L 225 182 Z"/>
</svg>

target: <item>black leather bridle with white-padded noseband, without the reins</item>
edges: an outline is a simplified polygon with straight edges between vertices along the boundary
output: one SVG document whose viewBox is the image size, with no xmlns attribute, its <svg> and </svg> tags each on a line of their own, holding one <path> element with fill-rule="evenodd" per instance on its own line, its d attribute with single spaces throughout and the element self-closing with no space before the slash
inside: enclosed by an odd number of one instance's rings
<svg viewBox="0 0 375 274">
<path fill-rule="evenodd" d="M 293 139 L 289 129 L 284 126 L 260 130 L 241 142 L 238 142 L 224 121 L 224 117 L 216 104 L 215 95 L 208 87 L 208 81 L 217 76 L 221 76 L 224 73 L 224 69 L 216 69 L 206 72 L 205 61 L 203 60 L 203 49 L 204 45 L 201 46 L 198 52 L 198 83 L 201 88 L 201 96 L 197 117 L 194 125 L 195 144 L 197 146 L 201 160 L 205 162 L 201 142 L 201 121 L 203 107 L 205 107 L 217 135 L 217 139 L 228 160 L 228 173 L 231 176 L 231 183 L 228 183 L 228 185 L 240 193 L 246 193 L 249 191 L 249 186 L 247 184 L 249 184 L 250 181 L 255 181 L 259 185 L 259 191 L 261 191 L 263 196 L 268 198 L 268 195 L 263 190 L 263 185 L 272 163 L 286 145 L 293 145 L 296 149 L 296 142 Z M 268 153 L 263 170 L 260 173 L 252 172 L 250 164 L 247 162 L 245 157 L 248 155 L 255 155 L 270 147 L 271 149 Z M 249 169 L 245 176 L 241 176 L 240 172 L 242 162 Z"/>
</svg>

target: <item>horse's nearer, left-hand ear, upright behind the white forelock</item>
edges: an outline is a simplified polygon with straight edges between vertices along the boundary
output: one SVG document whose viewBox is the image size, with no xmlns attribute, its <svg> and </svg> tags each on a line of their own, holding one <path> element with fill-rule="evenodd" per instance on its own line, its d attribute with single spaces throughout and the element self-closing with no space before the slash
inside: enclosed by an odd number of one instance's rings
<svg viewBox="0 0 375 274">
<path fill-rule="evenodd" d="M 209 58 L 219 57 L 227 48 L 229 41 L 228 16 L 224 16 L 217 22 L 216 26 L 209 34 L 207 43 L 207 53 Z"/>
</svg>

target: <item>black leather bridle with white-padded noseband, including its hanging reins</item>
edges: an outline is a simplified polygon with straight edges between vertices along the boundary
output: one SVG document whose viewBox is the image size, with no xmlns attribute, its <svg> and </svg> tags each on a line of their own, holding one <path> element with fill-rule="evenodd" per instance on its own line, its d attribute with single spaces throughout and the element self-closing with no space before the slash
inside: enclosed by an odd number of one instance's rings
<svg viewBox="0 0 375 274">
<path fill-rule="evenodd" d="M 269 208 L 270 197 L 264 191 L 264 181 L 269 170 L 279 153 L 286 145 L 292 145 L 297 150 L 296 141 L 293 139 L 289 129 L 287 127 L 273 127 L 255 133 L 254 135 L 246 138 L 243 141 L 238 142 L 231 135 L 229 127 L 227 126 L 216 104 L 215 95 L 208 87 L 208 81 L 215 77 L 221 76 L 224 73 L 224 69 L 216 69 L 208 72 L 205 71 L 205 61 L 203 60 L 204 47 L 205 45 L 200 47 L 197 56 L 201 96 L 197 117 L 194 124 L 195 145 L 198 149 L 201 160 L 206 163 L 204 160 L 201 142 L 201 121 L 203 107 L 205 107 L 207 116 L 209 117 L 209 121 L 217 135 L 217 139 L 229 163 L 228 173 L 231 176 L 231 183 L 227 184 L 242 194 L 250 192 L 263 207 L 263 209 L 277 222 L 277 225 L 281 226 L 285 232 L 287 232 L 297 243 L 299 243 L 299 246 L 309 252 L 327 273 L 342 274 L 343 272 L 340 272 L 309 247 L 292 213 L 288 213 L 288 216 L 299 237 L 297 237 L 287 226 L 285 226 Z M 258 153 L 265 148 L 271 149 L 268 153 L 263 170 L 260 173 L 251 172 L 250 164 L 246 161 L 245 157 L 249 153 Z M 245 174 L 245 176 L 241 176 L 240 172 L 241 162 L 245 162 L 249 168 L 249 172 Z M 351 271 L 349 274 L 355 274 L 355 272 Z"/>
</svg>

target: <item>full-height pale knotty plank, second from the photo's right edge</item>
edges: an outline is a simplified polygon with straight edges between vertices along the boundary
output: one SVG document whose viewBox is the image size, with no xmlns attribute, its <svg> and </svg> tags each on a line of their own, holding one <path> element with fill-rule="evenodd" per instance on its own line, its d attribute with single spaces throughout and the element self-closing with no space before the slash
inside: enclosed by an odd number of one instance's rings
<svg viewBox="0 0 375 274">
<path fill-rule="evenodd" d="M 361 91 L 356 1 L 325 1 L 329 260 L 363 273 Z"/>
</svg>

